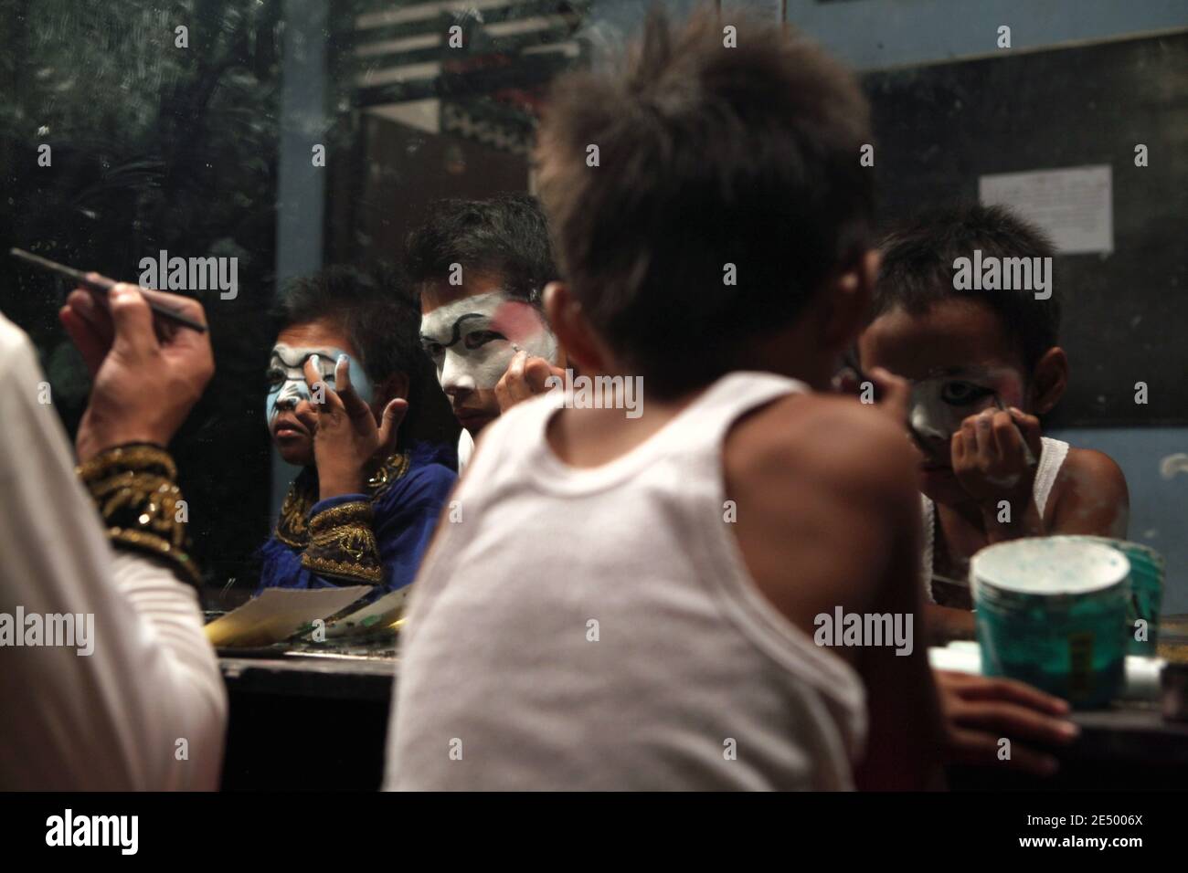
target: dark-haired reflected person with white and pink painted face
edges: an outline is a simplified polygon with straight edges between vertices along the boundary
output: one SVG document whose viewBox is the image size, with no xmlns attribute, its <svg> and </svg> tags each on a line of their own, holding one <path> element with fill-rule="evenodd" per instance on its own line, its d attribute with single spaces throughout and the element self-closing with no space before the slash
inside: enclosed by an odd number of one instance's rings
<svg viewBox="0 0 1188 873">
<path fill-rule="evenodd" d="M 442 201 L 410 235 L 405 266 L 422 348 L 462 426 L 461 470 L 484 428 L 564 375 L 541 301 L 556 274 L 548 226 L 526 196 Z"/>
</svg>

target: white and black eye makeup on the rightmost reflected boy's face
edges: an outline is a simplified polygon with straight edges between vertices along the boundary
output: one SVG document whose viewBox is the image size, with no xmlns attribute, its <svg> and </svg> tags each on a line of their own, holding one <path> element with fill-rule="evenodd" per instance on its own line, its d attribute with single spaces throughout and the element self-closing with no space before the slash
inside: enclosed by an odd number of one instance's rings
<svg viewBox="0 0 1188 873">
<path fill-rule="evenodd" d="M 916 442 L 930 454 L 947 456 L 949 441 L 972 415 L 994 406 L 1010 371 L 953 371 L 912 382 L 908 422 Z"/>
</svg>

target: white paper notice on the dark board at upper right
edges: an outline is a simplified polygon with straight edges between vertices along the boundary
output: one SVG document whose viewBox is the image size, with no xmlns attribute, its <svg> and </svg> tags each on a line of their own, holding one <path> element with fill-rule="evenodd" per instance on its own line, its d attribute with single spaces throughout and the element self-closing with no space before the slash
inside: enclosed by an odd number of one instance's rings
<svg viewBox="0 0 1188 873">
<path fill-rule="evenodd" d="M 1108 164 L 1004 172 L 978 179 L 986 205 L 1005 205 L 1048 232 L 1061 254 L 1113 251 L 1113 175 Z"/>
</svg>

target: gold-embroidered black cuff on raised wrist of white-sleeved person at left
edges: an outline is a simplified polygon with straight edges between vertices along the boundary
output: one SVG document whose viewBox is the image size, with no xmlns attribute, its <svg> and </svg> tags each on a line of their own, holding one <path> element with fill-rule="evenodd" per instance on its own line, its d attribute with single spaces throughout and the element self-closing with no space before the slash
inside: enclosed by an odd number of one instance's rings
<svg viewBox="0 0 1188 873">
<path fill-rule="evenodd" d="M 176 482 L 177 467 L 165 449 L 118 445 L 81 464 L 77 474 L 99 507 L 112 545 L 163 559 L 183 582 L 202 582 L 189 553 L 189 515 Z"/>
</svg>

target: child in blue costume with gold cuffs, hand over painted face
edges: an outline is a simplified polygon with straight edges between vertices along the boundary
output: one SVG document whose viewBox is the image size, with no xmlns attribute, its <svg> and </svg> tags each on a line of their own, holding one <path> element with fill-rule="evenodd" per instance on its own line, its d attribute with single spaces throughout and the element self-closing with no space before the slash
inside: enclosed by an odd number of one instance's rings
<svg viewBox="0 0 1188 873">
<path fill-rule="evenodd" d="M 402 438 L 428 378 L 416 310 L 341 267 L 292 284 L 270 355 L 265 413 L 304 469 L 263 548 L 260 589 L 407 590 L 456 475 L 450 451 Z"/>
</svg>

